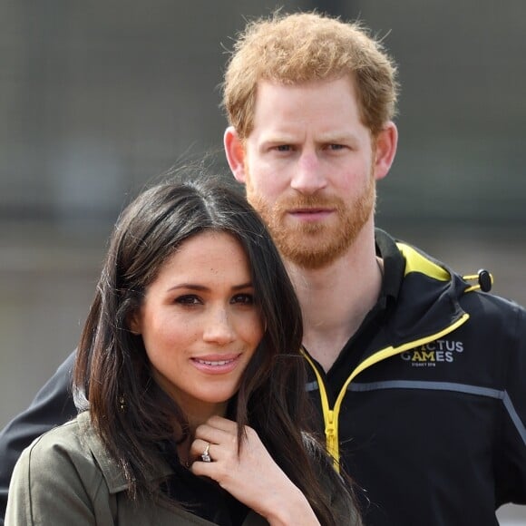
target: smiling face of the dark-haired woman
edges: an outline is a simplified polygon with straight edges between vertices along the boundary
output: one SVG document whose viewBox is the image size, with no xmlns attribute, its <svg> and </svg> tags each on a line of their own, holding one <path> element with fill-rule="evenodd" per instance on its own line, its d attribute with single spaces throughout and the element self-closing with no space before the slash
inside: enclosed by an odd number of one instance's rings
<svg viewBox="0 0 526 526">
<path fill-rule="evenodd" d="M 248 258 L 222 232 L 186 240 L 161 266 L 132 318 L 152 373 L 187 414 L 224 414 L 263 322 Z"/>
</svg>

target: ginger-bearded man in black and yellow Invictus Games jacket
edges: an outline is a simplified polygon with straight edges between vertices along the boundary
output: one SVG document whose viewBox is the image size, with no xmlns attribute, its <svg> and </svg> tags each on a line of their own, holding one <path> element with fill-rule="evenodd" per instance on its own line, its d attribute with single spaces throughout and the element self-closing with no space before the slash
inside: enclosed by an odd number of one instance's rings
<svg viewBox="0 0 526 526">
<path fill-rule="evenodd" d="M 307 387 L 365 523 L 497 524 L 502 503 L 526 503 L 526 312 L 482 293 L 486 273 L 375 230 L 396 91 L 357 25 L 248 24 L 225 75 L 227 159 L 297 288 Z"/>
</svg>

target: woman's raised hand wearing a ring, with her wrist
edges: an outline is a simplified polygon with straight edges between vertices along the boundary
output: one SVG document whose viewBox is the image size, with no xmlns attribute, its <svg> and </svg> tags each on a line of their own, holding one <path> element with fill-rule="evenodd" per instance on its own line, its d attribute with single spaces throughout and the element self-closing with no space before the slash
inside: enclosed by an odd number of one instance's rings
<svg viewBox="0 0 526 526">
<path fill-rule="evenodd" d="M 274 462 L 252 428 L 246 427 L 246 440 L 238 454 L 238 426 L 212 416 L 201 424 L 190 447 L 196 459 L 191 471 L 213 479 L 272 525 L 319 524 L 307 499 Z M 210 462 L 201 455 L 207 450 Z"/>
</svg>

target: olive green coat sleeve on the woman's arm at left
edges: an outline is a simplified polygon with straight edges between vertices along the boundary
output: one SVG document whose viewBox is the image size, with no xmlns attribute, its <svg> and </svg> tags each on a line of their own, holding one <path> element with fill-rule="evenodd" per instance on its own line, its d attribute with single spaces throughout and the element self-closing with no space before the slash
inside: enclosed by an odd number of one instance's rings
<svg viewBox="0 0 526 526">
<path fill-rule="evenodd" d="M 45 433 L 24 449 L 9 487 L 5 513 L 9 526 L 113 523 L 102 472 L 79 445 L 79 433 L 68 434 L 68 428 L 76 429 L 75 421 Z M 97 514 L 97 499 L 106 503 L 102 507 L 106 512 Z"/>
</svg>

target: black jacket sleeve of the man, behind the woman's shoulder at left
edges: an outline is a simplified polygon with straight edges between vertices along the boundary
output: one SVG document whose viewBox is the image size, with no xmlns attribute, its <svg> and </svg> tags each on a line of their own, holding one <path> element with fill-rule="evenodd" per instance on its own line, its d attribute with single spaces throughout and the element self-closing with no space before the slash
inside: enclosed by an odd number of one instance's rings
<svg viewBox="0 0 526 526">
<path fill-rule="evenodd" d="M 4 524 L 11 473 L 20 453 L 34 438 L 77 414 L 71 394 L 72 353 L 24 411 L 0 433 L 0 526 Z"/>
</svg>

